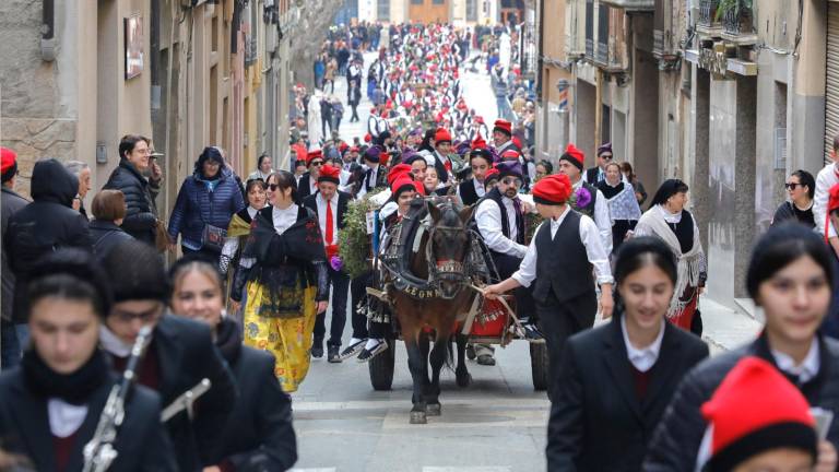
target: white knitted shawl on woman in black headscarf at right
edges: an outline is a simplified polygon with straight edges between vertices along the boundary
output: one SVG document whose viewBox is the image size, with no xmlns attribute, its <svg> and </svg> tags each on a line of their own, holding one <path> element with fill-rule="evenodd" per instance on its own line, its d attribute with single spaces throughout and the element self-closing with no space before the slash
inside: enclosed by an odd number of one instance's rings
<svg viewBox="0 0 839 472">
<path fill-rule="evenodd" d="M 688 302 L 681 302 L 682 294 L 685 293 L 685 288 L 688 286 L 699 286 L 699 281 L 705 266 L 705 253 L 702 252 L 702 246 L 699 243 L 699 229 L 694 224 L 694 246 L 689 251 L 683 253 L 682 247 L 678 244 L 675 233 L 664 220 L 663 209 L 659 209 L 659 205 L 654 205 L 641 215 L 636 226 L 637 233 L 651 233 L 664 240 L 670 246 L 670 249 L 676 256 L 677 260 L 677 279 L 676 288 L 673 292 L 673 299 L 670 300 L 669 316 L 674 316 L 681 312 Z M 683 210 L 684 211 L 684 210 Z M 639 231 L 640 229 L 640 231 Z"/>
</svg>

